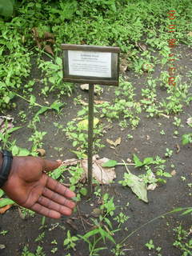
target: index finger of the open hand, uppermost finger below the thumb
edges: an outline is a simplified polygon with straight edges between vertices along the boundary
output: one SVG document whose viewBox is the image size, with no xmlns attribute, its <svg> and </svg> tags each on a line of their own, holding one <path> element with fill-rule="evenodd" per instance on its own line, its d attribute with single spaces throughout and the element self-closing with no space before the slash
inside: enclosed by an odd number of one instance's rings
<svg viewBox="0 0 192 256">
<path fill-rule="evenodd" d="M 46 182 L 46 187 L 58 194 L 62 194 L 66 198 L 74 198 L 75 194 L 73 191 L 69 190 L 66 186 L 63 186 L 61 183 L 55 181 L 53 178 L 48 178 Z"/>
</svg>

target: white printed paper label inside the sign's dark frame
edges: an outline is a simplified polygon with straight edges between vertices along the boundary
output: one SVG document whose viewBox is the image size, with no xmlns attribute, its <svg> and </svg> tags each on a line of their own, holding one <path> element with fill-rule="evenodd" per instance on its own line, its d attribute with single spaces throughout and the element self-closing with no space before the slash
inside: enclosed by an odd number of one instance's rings
<svg viewBox="0 0 192 256">
<path fill-rule="evenodd" d="M 68 50 L 69 74 L 111 78 L 111 53 Z"/>
</svg>

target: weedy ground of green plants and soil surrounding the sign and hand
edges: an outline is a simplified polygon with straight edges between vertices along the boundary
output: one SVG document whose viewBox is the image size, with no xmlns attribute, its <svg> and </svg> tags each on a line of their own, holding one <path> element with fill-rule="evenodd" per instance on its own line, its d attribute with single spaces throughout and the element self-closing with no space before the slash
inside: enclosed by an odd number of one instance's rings
<svg viewBox="0 0 192 256">
<path fill-rule="evenodd" d="M 0 216 L 0 254 L 192 255 L 191 17 L 190 0 L 0 1 L 0 146 L 76 158 L 50 176 L 77 193 L 74 217 L 51 222 L 0 190 L 0 207 L 14 205 Z M 98 85 L 94 101 L 94 154 L 110 159 L 103 168 L 115 168 L 117 179 L 95 178 L 89 200 L 81 165 L 88 94 L 62 82 L 61 43 L 121 48 L 119 86 Z"/>
</svg>

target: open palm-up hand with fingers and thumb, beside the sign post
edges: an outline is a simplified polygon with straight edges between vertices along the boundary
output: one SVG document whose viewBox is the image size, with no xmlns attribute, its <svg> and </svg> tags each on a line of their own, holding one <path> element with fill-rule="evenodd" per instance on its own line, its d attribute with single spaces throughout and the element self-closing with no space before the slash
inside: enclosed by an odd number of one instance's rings
<svg viewBox="0 0 192 256">
<path fill-rule="evenodd" d="M 18 205 L 49 218 L 70 215 L 75 194 L 50 178 L 46 172 L 61 165 L 61 161 L 34 157 L 14 157 L 10 175 L 2 190 Z"/>
</svg>

